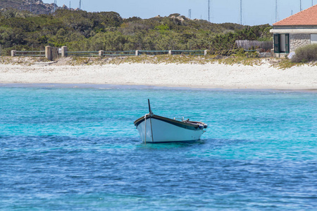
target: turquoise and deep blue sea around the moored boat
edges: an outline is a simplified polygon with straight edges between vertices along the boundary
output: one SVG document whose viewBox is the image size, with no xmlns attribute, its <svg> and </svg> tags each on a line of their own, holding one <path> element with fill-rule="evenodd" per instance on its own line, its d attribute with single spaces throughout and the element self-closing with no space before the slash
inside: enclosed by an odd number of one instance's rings
<svg viewBox="0 0 317 211">
<path fill-rule="evenodd" d="M 148 98 L 207 132 L 144 145 Z M 0 84 L 0 210 L 316 209 L 316 92 Z"/>
</svg>

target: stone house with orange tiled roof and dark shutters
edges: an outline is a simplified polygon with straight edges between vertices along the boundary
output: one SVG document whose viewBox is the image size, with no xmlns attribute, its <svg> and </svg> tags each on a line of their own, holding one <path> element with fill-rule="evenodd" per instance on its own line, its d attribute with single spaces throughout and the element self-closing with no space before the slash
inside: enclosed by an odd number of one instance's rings
<svg viewBox="0 0 317 211">
<path fill-rule="evenodd" d="M 299 46 L 317 43 L 317 5 L 273 24 L 274 53 L 295 51 Z"/>
</svg>

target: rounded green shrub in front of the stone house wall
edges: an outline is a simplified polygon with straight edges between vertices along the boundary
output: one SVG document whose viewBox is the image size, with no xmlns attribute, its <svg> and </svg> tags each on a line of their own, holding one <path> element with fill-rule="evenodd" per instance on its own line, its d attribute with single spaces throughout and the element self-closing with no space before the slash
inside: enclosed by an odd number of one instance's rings
<svg viewBox="0 0 317 211">
<path fill-rule="evenodd" d="M 317 44 L 299 47 L 292 58 L 295 63 L 308 63 L 315 60 L 317 60 Z"/>
</svg>

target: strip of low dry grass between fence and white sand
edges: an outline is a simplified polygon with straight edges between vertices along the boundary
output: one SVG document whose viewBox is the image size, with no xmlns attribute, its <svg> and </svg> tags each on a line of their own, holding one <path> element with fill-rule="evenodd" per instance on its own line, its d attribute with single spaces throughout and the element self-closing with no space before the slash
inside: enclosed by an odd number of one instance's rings
<svg viewBox="0 0 317 211">
<path fill-rule="evenodd" d="M 247 65 L 257 66 L 266 64 L 269 67 L 285 70 L 293 66 L 317 66 L 316 62 L 311 63 L 294 63 L 292 60 L 285 58 L 248 58 L 246 56 L 191 56 L 191 55 L 156 55 L 156 56 L 118 56 L 118 57 L 77 57 L 70 56 L 66 58 L 58 58 L 50 61 L 44 57 L 25 57 L 25 56 L 2 56 L 0 57 L 0 64 L 14 64 L 14 65 L 105 65 L 123 63 L 145 63 L 145 64 L 224 64 L 224 65 Z"/>
</svg>

